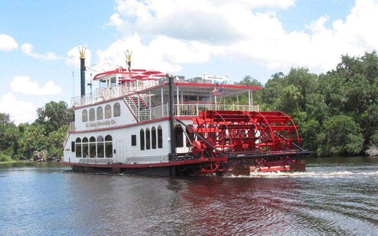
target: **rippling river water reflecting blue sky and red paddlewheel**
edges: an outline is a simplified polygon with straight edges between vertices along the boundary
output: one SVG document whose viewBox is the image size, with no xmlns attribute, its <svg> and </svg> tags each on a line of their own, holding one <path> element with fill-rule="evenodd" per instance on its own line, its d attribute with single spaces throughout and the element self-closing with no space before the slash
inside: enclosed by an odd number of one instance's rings
<svg viewBox="0 0 378 236">
<path fill-rule="evenodd" d="M 0 165 L 0 236 L 378 235 L 378 157 L 304 173 L 141 177 Z"/>
</svg>

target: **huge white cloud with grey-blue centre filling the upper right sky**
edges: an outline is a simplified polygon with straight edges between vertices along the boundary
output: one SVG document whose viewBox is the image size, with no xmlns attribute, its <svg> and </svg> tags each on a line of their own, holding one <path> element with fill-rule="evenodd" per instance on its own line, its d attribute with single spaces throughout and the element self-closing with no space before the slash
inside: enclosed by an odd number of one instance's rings
<svg viewBox="0 0 378 236">
<path fill-rule="evenodd" d="M 123 51 L 136 51 L 133 64 L 179 71 L 183 63 L 215 57 L 249 61 L 277 70 L 308 66 L 314 72 L 333 69 L 341 55 L 363 55 L 378 48 L 378 2 L 355 0 L 346 21 L 326 27 L 320 16 L 307 31 L 286 31 L 274 11 L 255 7 L 294 6 L 294 0 L 117 0 L 108 25 L 123 35 L 100 60 L 124 65 Z M 147 55 L 147 56 L 146 56 Z M 140 57 L 140 58 L 138 58 Z M 134 62 L 135 61 L 135 62 Z M 139 63 L 139 64 L 138 64 Z M 134 67 L 135 68 L 135 67 Z"/>
</svg>

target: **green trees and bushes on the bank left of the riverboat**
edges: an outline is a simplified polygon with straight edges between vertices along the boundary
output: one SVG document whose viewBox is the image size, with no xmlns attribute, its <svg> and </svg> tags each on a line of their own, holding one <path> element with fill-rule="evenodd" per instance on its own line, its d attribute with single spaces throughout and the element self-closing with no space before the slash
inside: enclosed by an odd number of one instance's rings
<svg viewBox="0 0 378 236">
<path fill-rule="evenodd" d="M 0 113 L 0 162 L 49 160 L 63 156 L 63 138 L 72 118 L 63 101 L 46 103 L 31 124 L 15 125 Z"/>
</svg>

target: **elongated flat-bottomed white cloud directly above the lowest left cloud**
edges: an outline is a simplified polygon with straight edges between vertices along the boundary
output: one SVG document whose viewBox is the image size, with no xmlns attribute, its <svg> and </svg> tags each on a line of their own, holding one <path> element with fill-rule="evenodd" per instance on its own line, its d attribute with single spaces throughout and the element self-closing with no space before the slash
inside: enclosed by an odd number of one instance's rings
<svg viewBox="0 0 378 236">
<path fill-rule="evenodd" d="M 39 88 L 38 82 L 31 81 L 28 76 L 16 76 L 10 82 L 13 92 L 21 92 L 30 95 L 53 95 L 62 93 L 62 88 L 58 87 L 53 81 L 49 80 Z"/>
</svg>

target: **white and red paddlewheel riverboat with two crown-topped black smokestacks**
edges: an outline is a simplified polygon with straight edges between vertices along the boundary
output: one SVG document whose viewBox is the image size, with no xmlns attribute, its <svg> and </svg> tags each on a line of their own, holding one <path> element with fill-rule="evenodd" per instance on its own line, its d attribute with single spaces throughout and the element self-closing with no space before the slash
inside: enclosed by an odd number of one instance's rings
<svg viewBox="0 0 378 236">
<path fill-rule="evenodd" d="M 293 120 L 262 112 L 253 86 L 216 83 L 226 76 L 185 79 L 156 70 L 98 73 L 99 89 L 85 93 L 85 48 L 80 49 L 81 95 L 71 98 L 72 121 L 62 164 L 74 172 L 135 175 L 245 175 L 304 171 Z M 239 95 L 248 104 L 239 104 Z M 234 102 L 226 102 L 233 97 Z"/>
</svg>

